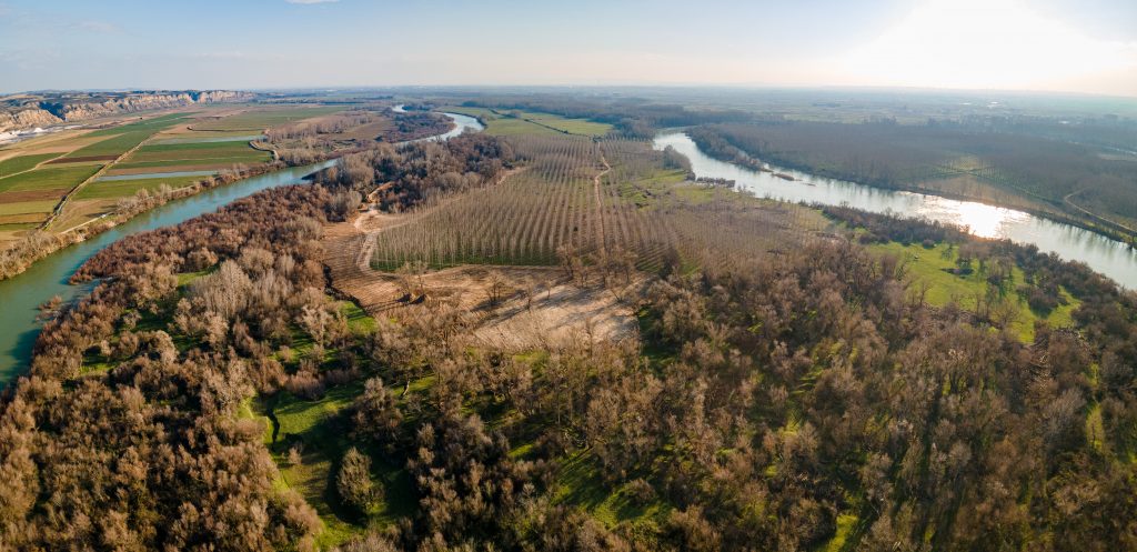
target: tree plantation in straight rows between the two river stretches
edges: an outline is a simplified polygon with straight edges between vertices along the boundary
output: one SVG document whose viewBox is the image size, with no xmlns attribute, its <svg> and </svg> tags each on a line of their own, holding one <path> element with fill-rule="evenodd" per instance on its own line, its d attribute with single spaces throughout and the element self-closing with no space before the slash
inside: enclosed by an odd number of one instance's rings
<svg viewBox="0 0 1137 552">
<path fill-rule="evenodd" d="M 821 230 L 815 212 L 742 200 L 704 187 L 674 187 L 681 171 L 662 166 L 647 142 L 529 134 L 512 140 L 529 168 L 460 200 L 441 200 L 406 216 L 376 240 L 372 264 L 408 262 L 554 265 L 562 247 L 583 255 L 620 252 L 654 272 L 678 245 L 683 265 L 725 261 L 704 255 L 709 241 L 762 253 Z M 601 155 L 603 154 L 603 155 Z M 609 163 L 606 170 L 603 163 Z"/>
</svg>

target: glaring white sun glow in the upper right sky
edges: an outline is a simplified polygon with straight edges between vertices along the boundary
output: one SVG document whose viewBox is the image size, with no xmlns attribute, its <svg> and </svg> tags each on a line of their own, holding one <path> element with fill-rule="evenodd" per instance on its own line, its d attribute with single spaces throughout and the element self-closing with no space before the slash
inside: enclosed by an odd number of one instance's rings
<svg viewBox="0 0 1137 552">
<path fill-rule="evenodd" d="M 839 65 L 871 84 L 1027 88 L 1137 67 L 1137 43 L 1088 36 L 1016 0 L 930 0 Z"/>
</svg>

